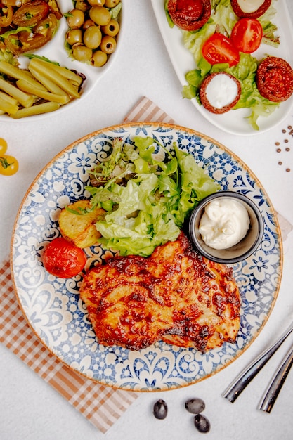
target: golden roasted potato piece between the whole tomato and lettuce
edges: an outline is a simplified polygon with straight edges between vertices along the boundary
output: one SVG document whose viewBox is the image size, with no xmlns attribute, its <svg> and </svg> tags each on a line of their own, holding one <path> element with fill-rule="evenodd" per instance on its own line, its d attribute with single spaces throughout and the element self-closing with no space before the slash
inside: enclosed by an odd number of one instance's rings
<svg viewBox="0 0 293 440">
<path fill-rule="evenodd" d="M 96 221 L 105 213 L 104 209 L 96 208 L 91 212 L 82 213 L 83 209 L 90 207 L 89 200 L 77 200 L 69 205 L 70 211 L 62 209 L 59 216 L 59 228 L 61 235 L 77 247 L 89 247 L 96 245 L 100 233 L 96 229 Z M 80 214 L 75 214 L 76 211 Z"/>
</svg>

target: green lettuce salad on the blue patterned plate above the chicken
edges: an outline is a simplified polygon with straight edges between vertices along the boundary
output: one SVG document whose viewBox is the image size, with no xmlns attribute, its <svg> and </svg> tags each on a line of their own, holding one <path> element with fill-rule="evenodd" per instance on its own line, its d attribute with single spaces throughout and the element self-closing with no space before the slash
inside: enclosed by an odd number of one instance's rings
<svg viewBox="0 0 293 440">
<path fill-rule="evenodd" d="M 86 190 L 91 209 L 106 212 L 96 223 L 103 247 L 148 257 L 176 240 L 193 207 L 219 190 L 193 155 L 172 146 L 169 151 L 150 137 L 136 136 L 134 145 L 115 138 L 108 160 L 93 170 Z"/>
</svg>

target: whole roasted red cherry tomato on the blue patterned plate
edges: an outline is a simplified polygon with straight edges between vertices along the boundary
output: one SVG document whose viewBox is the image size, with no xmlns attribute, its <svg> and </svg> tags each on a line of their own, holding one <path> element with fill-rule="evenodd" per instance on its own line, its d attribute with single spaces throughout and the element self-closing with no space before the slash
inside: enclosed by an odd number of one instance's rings
<svg viewBox="0 0 293 440">
<path fill-rule="evenodd" d="M 59 278 L 76 276 L 86 264 L 86 254 L 63 237 L 49 242 L 43 255 L 46 271 Z"/>
</svg>

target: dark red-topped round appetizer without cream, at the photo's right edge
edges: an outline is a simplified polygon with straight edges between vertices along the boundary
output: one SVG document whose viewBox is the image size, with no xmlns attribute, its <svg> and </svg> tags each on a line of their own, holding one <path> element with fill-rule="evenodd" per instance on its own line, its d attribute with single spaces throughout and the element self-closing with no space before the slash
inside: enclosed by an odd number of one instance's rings
<svg viewBox="0 0 293 440">
<path fill-rule="evenodd" d="M 287 61 L 268 56 L 256 70 L 256 86 L 263 98 L 279 103 L 293 93 L 293 70 Z"/>
</svg>

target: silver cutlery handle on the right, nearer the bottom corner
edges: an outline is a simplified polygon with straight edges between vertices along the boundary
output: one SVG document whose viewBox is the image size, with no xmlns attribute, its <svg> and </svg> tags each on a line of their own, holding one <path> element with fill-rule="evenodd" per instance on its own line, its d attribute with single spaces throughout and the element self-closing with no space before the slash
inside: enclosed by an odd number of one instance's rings
<svg viewBox="0 0 293 440">
<path fill-rule="evenodd" d="M 292 364 L 293 349 L 291 348 L 289 353 L 287 353 L 286 357 L 283 359 L 273 379 L 271 380 L 271 383 L 269 384 L 268 389 L 266 390 L 259 406 L 260 410 L 263 410 L 266 413 L 271 413 L 273 405 L 281 391 L 287 375 L 289 374 L 289 370 L 292 367 Z"/>
</svg>

